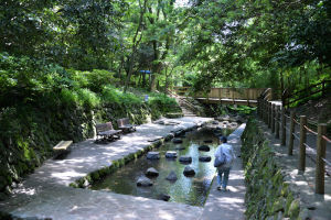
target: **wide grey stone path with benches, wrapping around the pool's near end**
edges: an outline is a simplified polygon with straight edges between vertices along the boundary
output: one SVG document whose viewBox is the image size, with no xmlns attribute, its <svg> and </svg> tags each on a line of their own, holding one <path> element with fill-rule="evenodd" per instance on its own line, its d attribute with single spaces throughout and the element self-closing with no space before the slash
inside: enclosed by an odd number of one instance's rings
<svg viewBox="0 0 331 220">
<path fill-rule="evenodd" d="M 65 160 L 49 160 L 30 175 L 14 189 L 10 199 L 0 202 L 0 210 L 22 218 L 53 220 L 197 219 L 203 211 L 201 207 L 76 189 L 68 187 L 68 184 L 90 172 L 109 166 L 111 161 L 149 146 L 152 140 L 211 120 L 199 117 L 172 119 L 171 121 L 180 124 L 148 123 L 139 125 L 137 132 L 124 135 L 121 140 L 110 144 L 94 144 L 94 140 L 75 144 Z"/>
</svg>

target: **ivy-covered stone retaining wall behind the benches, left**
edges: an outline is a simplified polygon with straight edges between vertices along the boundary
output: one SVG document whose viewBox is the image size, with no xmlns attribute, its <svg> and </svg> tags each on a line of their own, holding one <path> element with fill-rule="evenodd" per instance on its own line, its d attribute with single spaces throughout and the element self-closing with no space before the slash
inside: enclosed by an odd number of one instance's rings
<svg viewBox="0 0 331 220">
<path fill-rule="evenodd" d="M 145 103 L 90 109 L 54 102 L 12 107 L 0 112 L 0 199 L 10 193 L 11 186 L 52 157 L 52 147 L 61 140 L 79 142 L 93 138 L 95 124 L 100 122 L 113 121 L 117 127 L 117 119 L 129 117 L 134 124 L 141 124 L 168 113 Z"/>
</svg>

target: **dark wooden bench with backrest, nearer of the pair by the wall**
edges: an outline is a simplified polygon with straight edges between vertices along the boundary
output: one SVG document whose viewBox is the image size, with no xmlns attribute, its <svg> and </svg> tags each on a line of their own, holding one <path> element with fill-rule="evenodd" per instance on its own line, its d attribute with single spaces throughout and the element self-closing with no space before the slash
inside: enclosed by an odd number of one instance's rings
<svg viewBox="0 0 331 220">
<path fill-rule="evenodd" d="M 119 135 L 120 132 L 121 130 L 114 130 L 113 123 L 110 121 L 106 123 L 96 124 L 96 133 L 97 133 L 96 142 L 118 140 L 120 139 Z"/>
</svg>

